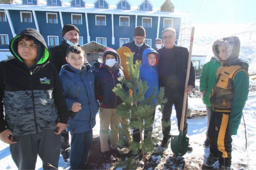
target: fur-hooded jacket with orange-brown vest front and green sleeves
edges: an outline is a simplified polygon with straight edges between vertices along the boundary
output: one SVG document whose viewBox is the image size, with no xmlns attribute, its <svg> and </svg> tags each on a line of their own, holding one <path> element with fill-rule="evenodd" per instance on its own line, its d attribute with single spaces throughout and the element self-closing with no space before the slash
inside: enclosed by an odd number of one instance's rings
<svg viewBox="0 0 256 170">
<path fill-rule="evenodd" d="M 240 41 L 234 37 L 225 37 L 215 41 L 212 51 L 219 57 L 218 46 L 227 48 L 226 60 L 221 61 L 216 73 L 216 82 L 210 95 L 210 103 L 215 111 L 231 110 L 229 115 L 228 133 L 236 135 L 242 111 L 249 93 L 248 63 L 239 59 Z"/>
</svg>

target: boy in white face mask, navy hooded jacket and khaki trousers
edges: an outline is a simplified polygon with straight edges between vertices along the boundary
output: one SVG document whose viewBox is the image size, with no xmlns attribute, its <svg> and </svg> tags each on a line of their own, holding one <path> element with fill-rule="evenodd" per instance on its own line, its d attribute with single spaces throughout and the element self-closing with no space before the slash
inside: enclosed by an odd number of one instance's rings
<svg viewBox="0 0 256 170">
<path fill-rule="evenodd" d="M 109 124 L 111 128 L 111 149 L 115 152 L 118 140 L 118 127 L 120 116 L 116 113 L 116 106 L 122 103 L 120 97 L 112 91 L 117 84 L 125 84 L 118 81 L 119 77 L 124 77 L 120 69 L 120 56 L 114 49 L 107 48 L 102 56 L 103 65 L 94 72 L 95 96 L 100 101 L 100 148 L 105 156 L 110 156 L 108 146 Z"/>
</svg>

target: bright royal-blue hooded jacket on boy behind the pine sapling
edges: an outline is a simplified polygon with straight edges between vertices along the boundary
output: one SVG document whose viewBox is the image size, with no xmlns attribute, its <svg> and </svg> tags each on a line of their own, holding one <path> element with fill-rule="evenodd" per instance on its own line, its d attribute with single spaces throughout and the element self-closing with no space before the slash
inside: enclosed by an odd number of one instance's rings
<svg viewBox="0 0 256 170">
<path fill-rule="evenodd" d="M 154 53 L 157 55 L 156 64 L 154 66 L 149 65 L 147 55 L 149 53 Z M 158 84 L 158 74 L 156 65 L 159 61 L 159 54 L 153 48 L 147 48 L 143 51 L 142 54 L 142 64 L 140 66 L 140 79 L 144 82 L 147 81 L 148 90 L 145 92 L 145 99 L 148 99 L 152 94 L 154 87 L 156 87 L 156 93 L 159 93 L 159 84 Z M 153 99 L 152 104 L 156 102 L 156 98 Z"/>
</svg>

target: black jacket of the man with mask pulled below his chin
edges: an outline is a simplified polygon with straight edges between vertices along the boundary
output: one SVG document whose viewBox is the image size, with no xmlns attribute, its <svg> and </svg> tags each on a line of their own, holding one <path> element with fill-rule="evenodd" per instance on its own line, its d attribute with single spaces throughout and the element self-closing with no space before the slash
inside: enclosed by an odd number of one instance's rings
<svg viewBox="0 0 256 170">
<path fill-rule="evenodd" d="M 69 47 L 70 45 L 68 45 L 68 43 L 62 39 L 60 45 L 49 48 L 49 52 L 51 54 L 51 62 L 56 67 L 58 73 L 60 72 L 60 69 L 63 65 L 68 64 L 65 57 Z M 91 66 L 88 61 L 84 61 L 84 65 Z"/>
</svg>

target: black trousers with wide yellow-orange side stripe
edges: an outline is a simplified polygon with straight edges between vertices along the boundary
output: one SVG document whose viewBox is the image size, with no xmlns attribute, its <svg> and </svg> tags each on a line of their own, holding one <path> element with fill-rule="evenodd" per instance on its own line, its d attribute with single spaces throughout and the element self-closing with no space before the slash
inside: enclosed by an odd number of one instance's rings
<svg viewBox="0 0 256 170">
<path fill-rule="evenodd" d="M 210 153 L 219 158 L 219 163 L 231 166 L 232 138 L 228 134 L 230 112 L 212 112 L 208 129 Z"/>
</svg>

